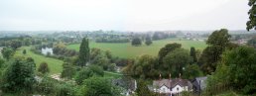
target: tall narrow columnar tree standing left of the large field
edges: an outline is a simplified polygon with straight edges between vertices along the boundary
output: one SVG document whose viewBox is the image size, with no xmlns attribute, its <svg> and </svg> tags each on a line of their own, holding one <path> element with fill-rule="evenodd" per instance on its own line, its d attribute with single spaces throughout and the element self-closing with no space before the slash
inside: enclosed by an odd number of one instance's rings
<svg viewBox="0 0 256 96">
<path fill-rule="evenodd" d="M 79 48 L 79 65 L 85 66 L 88 61 L 89 61 L 89 40 L 86 38 L 83 38 Z"/>
</svg>

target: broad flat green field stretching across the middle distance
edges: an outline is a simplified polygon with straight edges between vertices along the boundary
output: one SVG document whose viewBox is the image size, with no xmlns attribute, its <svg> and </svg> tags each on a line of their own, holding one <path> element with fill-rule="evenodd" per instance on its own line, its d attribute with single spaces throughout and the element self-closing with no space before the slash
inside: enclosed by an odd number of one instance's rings
<svg viewBox="0 0 256 96">
<path fill-rule="evenodd" d="M 161 40 L 153 41 L 151 46 L 142 45 L 141 47 L 132 47 L 130 43 L 126 44 L 107 44 L 107 43 L 94 43 L 90 42 L 90 48 L 101 48 L 103 50 L 110 50 L 113 55 L 132 58 L 142 54 L 157 55 L 160 48 L 165 47 L 167 44 L 178 43 L 182 44 L 183 48 L 190 49 L 191 47 L 203 49 L 206 47 L 204 42 L 199 41 L 186 41 L 186 40 Z M 80 44 L 69 45 L 67 48 L 79 49 Z"/>
</svg>

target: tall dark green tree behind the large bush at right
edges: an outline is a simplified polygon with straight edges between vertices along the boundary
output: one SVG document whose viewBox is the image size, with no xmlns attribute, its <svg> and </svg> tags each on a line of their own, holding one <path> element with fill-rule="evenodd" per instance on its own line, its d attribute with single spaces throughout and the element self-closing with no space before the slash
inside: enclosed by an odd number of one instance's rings
<svg viewBox="0 0 256 96">
<path fill-rule="evenodd" d="M 214 31 L 208 37 L 206 44 L 209 47 L 204 48 L 198 61 L 204 73 L 210 74 L 215 71 L 216 63 L 221 58 L 220 55 L 226 48 L 230 47 L 230 38 L 231 36 L 228 35 L 226 29 Z"/>
</svg>

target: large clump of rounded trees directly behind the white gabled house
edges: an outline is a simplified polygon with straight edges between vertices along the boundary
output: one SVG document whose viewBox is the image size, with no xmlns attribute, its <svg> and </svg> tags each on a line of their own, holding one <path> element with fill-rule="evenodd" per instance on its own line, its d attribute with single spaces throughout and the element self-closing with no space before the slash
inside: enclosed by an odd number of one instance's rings
<svg viewBox="0 0 256 96">
<path fill-rule="evenodd" d="M 180 44 L 169 44 L 160 49 L 158 57 L 144 54 L 130 61 L 123 72 L 143 79 L 156 79 L 159 74 L 168 77 L 170 73 L 178 77 L 182 73 L 185 74 L 184 78 L 191 79 L 202 74 L 198 65 L 192 63 L 193 57 L 189 50 Z"/>
</svg>

